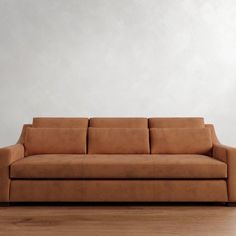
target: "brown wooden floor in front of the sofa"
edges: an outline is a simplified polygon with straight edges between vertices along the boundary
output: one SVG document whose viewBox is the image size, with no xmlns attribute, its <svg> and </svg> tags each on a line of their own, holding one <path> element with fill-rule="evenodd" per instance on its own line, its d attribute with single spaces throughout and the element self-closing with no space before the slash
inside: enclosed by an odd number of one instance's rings
<svg viewBox="0 0 236 236">
<path fill-rule="evenodd" d="M 0 207 L 2 236 L 235 236 L 236 207 Z"/>
</svg>

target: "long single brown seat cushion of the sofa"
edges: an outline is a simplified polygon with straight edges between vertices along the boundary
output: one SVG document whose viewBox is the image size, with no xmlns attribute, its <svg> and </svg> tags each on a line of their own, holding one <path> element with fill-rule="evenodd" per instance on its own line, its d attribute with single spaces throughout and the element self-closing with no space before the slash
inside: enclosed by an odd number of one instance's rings
<svg viewBox="0 0 236 236">
<path fill-rule="evenodd" d="M 203 155 L 35 155 L 14 162 L 15 179 L 222 179 L 227 165 Z"/>
</svg>

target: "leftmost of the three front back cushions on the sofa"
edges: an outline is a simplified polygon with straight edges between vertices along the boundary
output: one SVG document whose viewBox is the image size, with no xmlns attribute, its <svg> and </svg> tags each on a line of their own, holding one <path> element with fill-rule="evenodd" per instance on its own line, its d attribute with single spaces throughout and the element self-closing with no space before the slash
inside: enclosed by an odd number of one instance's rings
<svg viewBox="0 0 236 236">
<path fill-rule="evenodd" d="M 26 156 L 36 154 L 85 154 L 87 129 L 27 128 Z"/>
</svg>

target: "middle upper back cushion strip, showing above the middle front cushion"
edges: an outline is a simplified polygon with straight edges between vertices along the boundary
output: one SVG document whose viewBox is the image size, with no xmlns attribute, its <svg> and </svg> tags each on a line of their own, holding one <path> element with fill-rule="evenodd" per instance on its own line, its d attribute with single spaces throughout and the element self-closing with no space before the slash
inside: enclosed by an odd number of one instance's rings
<svg viewBox="0 0 236 236">
<path fill-rule="evenodd" d="M 148 128 L 147 118 L 90 118 L 89 127 L 95 128 Z"/>
</svg>

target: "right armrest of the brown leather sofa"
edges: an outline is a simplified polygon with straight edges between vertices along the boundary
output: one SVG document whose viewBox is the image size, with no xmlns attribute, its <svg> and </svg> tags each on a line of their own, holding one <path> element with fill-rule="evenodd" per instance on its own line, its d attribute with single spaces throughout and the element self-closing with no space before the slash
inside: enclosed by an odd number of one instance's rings
<svg viewBox="0 0 236 236">
<path fill-rule="evenodd" d="M 236 148 L 215 144 L 213 157 L 227 164 L 228 198 L 230 202 L 236 202 Z"/>
</svg>

